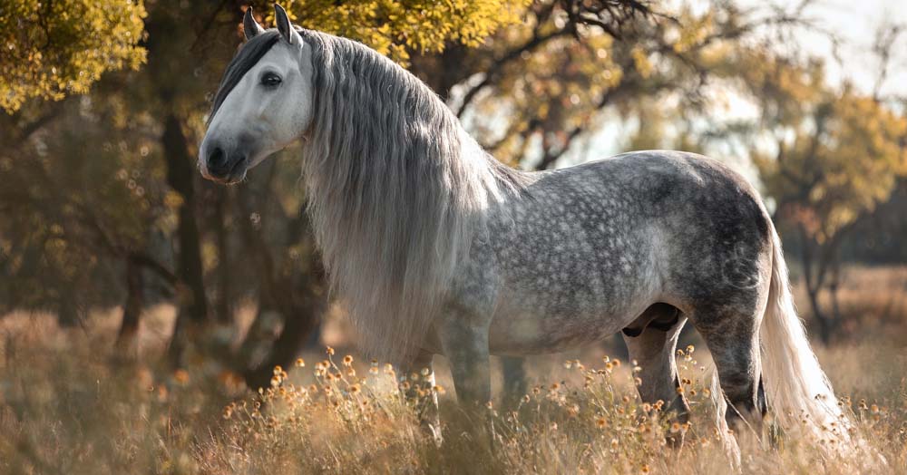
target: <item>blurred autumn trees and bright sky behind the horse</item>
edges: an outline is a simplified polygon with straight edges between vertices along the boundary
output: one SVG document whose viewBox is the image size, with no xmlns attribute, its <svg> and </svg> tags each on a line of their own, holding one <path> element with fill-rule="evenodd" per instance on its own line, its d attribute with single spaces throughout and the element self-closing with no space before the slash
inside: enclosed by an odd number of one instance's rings
<svg viewBox="0 0 907 475">
<path fill-rule="evenodd" d="M 815 344 L 907 341 L 898 0 L 283 5 L 404 65 L 512 167 L 642 149 L 725 160 L 773 213 Z M 353 347 L 299 151 L 233 187 L 196 168 L 248 6 L 0 3 L 0 404 L 27 405 L 14 366 L 36 354 L 241 390 L 299 354 Z M 252 6 L 272 24 L 270 3 Z M 619 338 L 599 351 L 619 354 Z M 522 362 L 507 364 L 519 378 Z"/>
</svg>

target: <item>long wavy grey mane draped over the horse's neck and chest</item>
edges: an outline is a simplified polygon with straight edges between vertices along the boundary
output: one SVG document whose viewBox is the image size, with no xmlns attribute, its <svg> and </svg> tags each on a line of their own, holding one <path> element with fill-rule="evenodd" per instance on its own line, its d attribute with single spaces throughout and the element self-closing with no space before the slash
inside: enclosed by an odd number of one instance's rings
<svg viewBox="0 0 907 475">
<path fill-rule="evenodd" d="M 413 356 L 490 199 L 519 175 L 487 156 L 423 82 L 362 44 L 302 30 L 314 116 L 308 211 L 367 354 Z"/>
</svg>

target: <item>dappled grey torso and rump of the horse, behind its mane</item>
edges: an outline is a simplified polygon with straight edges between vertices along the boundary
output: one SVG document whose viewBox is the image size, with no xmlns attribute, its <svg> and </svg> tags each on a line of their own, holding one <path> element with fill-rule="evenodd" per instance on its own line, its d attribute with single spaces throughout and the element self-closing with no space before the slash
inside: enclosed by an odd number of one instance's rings
<svg viewBox="0 0 907 475">
<path fill-rule="evenodd" d="M 765 211 L 717 160 L 633 152 L 534 178 L 496 211 L 479 247 L 501 283 L 493 346 L 534 353 L 594 341 L 655 301 L 699 298 L 716 275 L 751 284 Z"/>
</svg>

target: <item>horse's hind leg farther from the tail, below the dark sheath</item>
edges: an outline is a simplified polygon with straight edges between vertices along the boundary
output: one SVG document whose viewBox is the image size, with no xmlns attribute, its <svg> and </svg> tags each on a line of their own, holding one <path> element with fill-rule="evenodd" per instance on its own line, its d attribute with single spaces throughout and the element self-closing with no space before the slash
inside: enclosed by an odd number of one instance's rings
<svg viewBox="0 0 907 475">
<path fill-rule="evenodd" d="M 677 412 L 680 422 L 687 422 L 689 405 L 678 391 L 677 362 L 674 351 L 687 318 L 667 304 L 655 304 L 623 330 L 630 359 L 641 368 L 639 396 L 645 402 L 662 401 L 665 411 Z"/>
</svg>

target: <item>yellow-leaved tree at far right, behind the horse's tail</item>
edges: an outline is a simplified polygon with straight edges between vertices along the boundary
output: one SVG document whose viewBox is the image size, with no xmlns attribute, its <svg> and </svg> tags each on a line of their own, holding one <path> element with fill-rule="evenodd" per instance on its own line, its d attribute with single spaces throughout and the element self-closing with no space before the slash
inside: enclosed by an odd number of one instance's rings
<svg viewBox="0 0 907 475">
<path fill-rule="evenodd" d="M 800 238 L 806 292 L 828 343 L 841 315 L 837 302 L 844 238 L 892 194 L 907 174 L 907 120 L 872 97 L 845 86 L 824 92 L 808 113 L 790 123 L 792 137 L 775 156 L 756 155 L 776 215 L 794 223 Z M 829 315 L 819 301 L 827 286 Z"/>
</svg>

